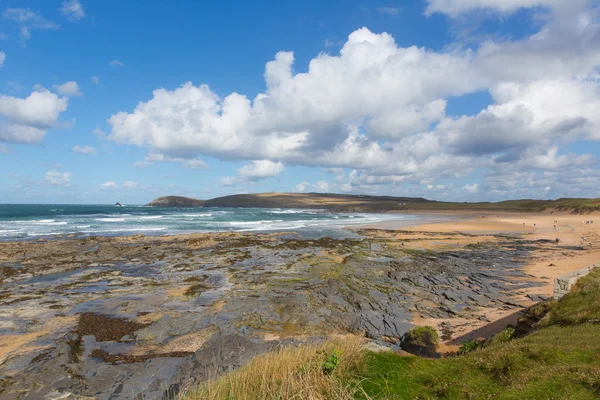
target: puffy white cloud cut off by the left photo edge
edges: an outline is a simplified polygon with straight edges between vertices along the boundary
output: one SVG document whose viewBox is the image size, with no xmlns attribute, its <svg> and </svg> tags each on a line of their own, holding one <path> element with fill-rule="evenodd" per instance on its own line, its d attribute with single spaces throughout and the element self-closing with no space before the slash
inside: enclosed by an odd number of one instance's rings
<svg viewBox="0 0 600 400">
<path fill-rule="evenodd" d="M 0 141 L 39 143 L 48 129 L 58 125 L 67 109 L 67 98 L 48 90 L 34 91 L 26 98 L 0 94 Z"/>
</svg>

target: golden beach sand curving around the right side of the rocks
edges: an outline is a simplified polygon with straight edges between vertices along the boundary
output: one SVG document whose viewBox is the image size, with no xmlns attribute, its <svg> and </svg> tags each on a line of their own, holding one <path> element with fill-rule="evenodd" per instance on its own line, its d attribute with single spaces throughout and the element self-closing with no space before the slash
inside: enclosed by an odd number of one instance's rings
<svg viewBox="0 0 600 400">
<path fill-rule="evenodd" d="M 428 213 L 431 215 L 431 213 Z M 583 251 L 571 251 L 556 248 L 555 243 L 542 246 L 542 250 L 532 252 L 524 271 L 543 283 L 527 293 L 551 296 L 554 278 L 578 270 L 591 264 L 600 263 L 600 213 L 571 215 L 565 213 L 482 213 L 482 212 L 444 212 L 442 218 L 450 221 L 426 222 L 420 225 L 406 225 L 406 221 L 391 221 L 372 224 L 366 228 L 398 229 L 396 239 L 406 238 L 408 248 L 444 249 L 462 247 L 470 243 L 493 242 L 498 240 L 491 235 L 519 236 L 526 240 L 560 240 L 561 246 L 582 246 Z M 555 222 L 556 221 L 556 222 Z M 586 224 L 585 221 L 594 221 Z M 439 234 L 438 234 L 439 233 Z M 444 233 L 464 233 L 476 236 L 444 236 Z M 515 297 L 516 304 L 529 307 L 533 301 L 525 296 Z M 515 323 L 520 313 L 498 309 L 480 309 L 476 314 L 485 315 L 491 322 L 472 319 L 424 319 L 415 315 L 416 325 L 435 326 L 441 332 L 441 324 L 446 323 L 452 329 L 452 339 L 441 346 L 442 352 L 456 351 L 458 338 L 472 339 L 476 336 L 489 336 L 503 329 L 506 324 Z"/>
</svg>

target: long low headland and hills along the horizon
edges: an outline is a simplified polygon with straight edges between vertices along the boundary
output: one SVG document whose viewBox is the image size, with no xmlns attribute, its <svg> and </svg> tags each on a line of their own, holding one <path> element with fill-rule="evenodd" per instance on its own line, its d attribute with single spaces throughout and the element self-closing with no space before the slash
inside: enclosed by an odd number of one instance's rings
<svg viewBox="0 0 600 400">
<path fill-rule="evenodd" d="M 313 208 L 339 212 L 404 211 L 524 211 L 546 209 L 585 214 L 600 211 L 600 199 L 507 200 L 497 203 L 453 203 L 422 197 L 367 196 L 334 193 L 258 193 L 236 194 L 211 200 L 165 196 L 147 204 L 154 207 L 260 207 Z"/>
</svg>

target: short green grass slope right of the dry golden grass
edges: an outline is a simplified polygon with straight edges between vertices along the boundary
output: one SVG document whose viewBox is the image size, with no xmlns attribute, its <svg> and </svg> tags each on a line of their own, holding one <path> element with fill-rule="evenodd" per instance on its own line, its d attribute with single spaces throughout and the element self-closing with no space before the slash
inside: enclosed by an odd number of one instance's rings
<svg viewBox="0 0 600 400">
<path fill-rule="evenodd" d="M 600 329 L 553 326 L 442 360 L 371 353 L 358 376 L 365 399 L 597 399 Z"/>
</svg>

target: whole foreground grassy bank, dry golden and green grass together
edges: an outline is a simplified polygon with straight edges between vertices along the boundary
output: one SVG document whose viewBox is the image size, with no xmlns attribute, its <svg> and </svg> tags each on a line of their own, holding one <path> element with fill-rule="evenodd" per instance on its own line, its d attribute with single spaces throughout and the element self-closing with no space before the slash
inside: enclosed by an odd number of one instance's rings
<svg viewBox="0 0 600 400">
<path fill-rule="evenodd" d="M 282 349 L 205 383 L 186 399 L 597 399 L 600 269 L 532 333 L 441 360 L 362 350 L 358 338 Z M 324 364 L 333 352 L 337 367 Z"/>
</svg>

